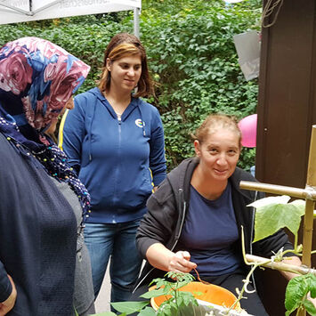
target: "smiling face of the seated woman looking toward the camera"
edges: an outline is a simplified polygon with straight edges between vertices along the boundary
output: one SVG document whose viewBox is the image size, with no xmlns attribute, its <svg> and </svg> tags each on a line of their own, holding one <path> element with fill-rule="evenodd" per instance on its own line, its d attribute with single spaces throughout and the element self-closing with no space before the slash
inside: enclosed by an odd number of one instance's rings
<svg viewBox="0 0 316 316">
<path fill-rule="evenodd" d="M 208 134 L 204 142 L 194 142 L 200 171 L 209 180 L 223 181 L 235 171 L 239 160 L 239 135 L 230 129 L 219 128 Z"/>
</svg>

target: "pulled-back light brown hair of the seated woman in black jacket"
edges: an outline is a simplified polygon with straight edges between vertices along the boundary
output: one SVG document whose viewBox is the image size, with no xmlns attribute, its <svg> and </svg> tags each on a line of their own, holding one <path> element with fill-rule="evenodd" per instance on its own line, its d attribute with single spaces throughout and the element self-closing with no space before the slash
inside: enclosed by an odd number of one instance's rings
<svg viewBox="0 0 316 316">
<path fill-rule="evenodd" d="M 209 134 L 213 134 L 219 129 L 227 129 L 239 137 L 239 148 L 241 148 L 241 131 L 236 117 L 225 114 L 210 114 L 198 127 L 195 134 L 192 134 L 194 140 L 200 143 L 205 142 Z"/>
</svg>

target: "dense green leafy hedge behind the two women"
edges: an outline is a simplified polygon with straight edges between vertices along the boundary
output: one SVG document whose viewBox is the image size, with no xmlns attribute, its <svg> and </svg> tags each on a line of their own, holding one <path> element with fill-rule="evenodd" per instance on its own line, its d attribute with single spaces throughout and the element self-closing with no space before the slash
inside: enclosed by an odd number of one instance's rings
<svg viewBox="0 0 316 316">
<path fill-rule="evenodd" d="M 232 36 L 259 29 L 261 1 L 225 5 L 223 0 L 143 0 L 141 39 L 147 49 L 160 111 L 168 169 L 194 154 L 190 133 L 209 113 L 238 118 L 255 113 L 257 80 L 239 68 Z M 79 89 L 99 78 L 103 52 L 118 32 L 133 32 L 133 12 L 113 12 L 0 26 L 0 45 L 40 36 L 60 45 L 92 69 Z M 255 150 L 243 150 L 239 166 L 255 165 Z"/>
</svg>

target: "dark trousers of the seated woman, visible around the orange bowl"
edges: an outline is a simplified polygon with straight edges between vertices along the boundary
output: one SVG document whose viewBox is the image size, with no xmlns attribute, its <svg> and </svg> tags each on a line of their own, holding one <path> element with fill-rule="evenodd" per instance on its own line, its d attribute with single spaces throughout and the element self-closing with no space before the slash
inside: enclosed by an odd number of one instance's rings
<svg viewBox="0 0 316 316">
<path fill-rule="evenodd" d="M 242 280 L 246 279 L 247 274 L 241 271 L 235 271 L 230 274 L 225 274 L 221 276 L 216 276 L 216 277 L 205 277 L 201 276 L 201 280 L 205 280 L 209 283 L 215 284 L 217 286 L 220 286 L 222 288 L 226 288 L 231 293 L 233 293 L 235 296 L 236 294 L 236 288 L 241 288 L 244 285 L 244 282 Z M 252 291 L 254 290 L 253 285 L 250 283 L 247 286 L 247 290 Z M 148 291 L 148 285 L 144 285 L 140 288 L 137 288 L 133 295 L 130 298 L 130 301 L 144 301 L 141 296 L 143 293 Z M 261 302 L 260 297 L 257 295 L 256 292 L 248 294 L 244 293 L 245 297 L 240 301 L 241 308 L 246 310 L 249 314 L 255 315 L 255 316 L 269 316 L 269 314 L 265 311 L 265 308 L 263 306 L 263 303 Z"/>
</svg>

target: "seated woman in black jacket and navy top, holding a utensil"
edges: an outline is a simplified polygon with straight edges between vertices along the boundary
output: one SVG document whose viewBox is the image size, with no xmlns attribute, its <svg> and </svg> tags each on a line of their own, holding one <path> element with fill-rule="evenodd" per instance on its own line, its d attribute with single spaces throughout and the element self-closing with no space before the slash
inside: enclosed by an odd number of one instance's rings
<svg viewBox="0 0 316 316">
<path fill-rule="evenodd" d="M 195 134 L 197 158 L 184 160 L 150 197 L 149 212 L 137 233 L 137 247 L 149 262 L 138 293 L 143 291 L 143 284 L 158 276 L 153 267 L 160 272 L 191 272 L 197 276 L 196 269 L 202 280 L 235 293 L 247 275 L 241 226 L 248 254 L 270 257 L 280 247 L 292 249 L 284 231 L 252 245 L 255 213 L 247 205 L 263 194 L 239 189 L 240 181 L 255 181 L 236 166 L 240 141 L 240 130 L 232 117 L 210 115 Z M 300 264 L 297 257 L 287 262 Z M 282 273 L 288 279 L 294 276 Z M 255 290 L 254 284 L 248 289 Z M 241 306 L 256 316 L 267 315 L 255 292 L 247 294 Z"/>
</svg>

